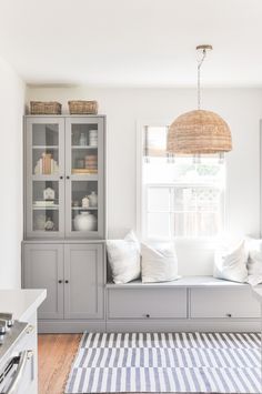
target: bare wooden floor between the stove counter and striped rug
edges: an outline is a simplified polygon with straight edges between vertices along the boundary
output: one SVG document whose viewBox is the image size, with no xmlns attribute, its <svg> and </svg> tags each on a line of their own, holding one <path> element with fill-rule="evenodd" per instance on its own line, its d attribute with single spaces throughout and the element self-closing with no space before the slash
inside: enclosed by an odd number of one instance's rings
<svg viewBox="0 0 262 394">
<path fill-rule="evenodd" d="M 62 394 L 81 334 L 39 335 L 39 394 Z"/>
</svg>

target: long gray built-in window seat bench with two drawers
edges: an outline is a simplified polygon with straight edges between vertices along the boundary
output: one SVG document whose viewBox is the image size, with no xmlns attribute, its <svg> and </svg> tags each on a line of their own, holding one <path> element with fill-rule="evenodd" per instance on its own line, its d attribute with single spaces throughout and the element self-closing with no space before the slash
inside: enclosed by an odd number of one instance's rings
<svg viewBox="0 0 262 394">
<path fill-rule="evenodd" d="M 260 331 L 260 305 L 249 284 L 188 276 L 105 287 L 109 332 Z"/>
</svg>

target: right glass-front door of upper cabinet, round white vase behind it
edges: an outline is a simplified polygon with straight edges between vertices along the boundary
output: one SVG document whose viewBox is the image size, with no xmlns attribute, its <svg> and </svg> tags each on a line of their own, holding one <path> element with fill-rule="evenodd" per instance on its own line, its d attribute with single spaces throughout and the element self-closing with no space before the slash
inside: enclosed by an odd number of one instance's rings
<svg viewBox="0 0 262 394">
<path fill-rule="evenodd" d="M 66 235 L 104 236 L 103 118 L 66 120 Z"/>
</svg>

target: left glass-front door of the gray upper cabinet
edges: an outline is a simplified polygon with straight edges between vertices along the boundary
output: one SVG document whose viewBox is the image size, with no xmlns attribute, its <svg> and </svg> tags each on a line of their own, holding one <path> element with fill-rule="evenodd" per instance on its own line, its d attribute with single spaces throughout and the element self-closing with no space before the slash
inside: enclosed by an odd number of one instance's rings
<svg viewBox="0 0 262 394">
<path fill-rule="evenodd" d="M 27 235 L 64 234 L 64 120 L 27 118 Z"/>
</svg>

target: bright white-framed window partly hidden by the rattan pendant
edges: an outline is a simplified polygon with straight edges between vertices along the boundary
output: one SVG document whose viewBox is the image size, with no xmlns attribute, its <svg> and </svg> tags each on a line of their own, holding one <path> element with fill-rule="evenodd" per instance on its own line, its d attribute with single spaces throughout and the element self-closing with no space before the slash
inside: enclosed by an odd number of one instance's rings
<svg viewBox="0 0 262 394">
<path fill-rule="evenodd" d="M 225 164 L 218 155 L 168 155 L 167 133 L 168 127 L 143 128 L 142 236 L 213 238 L 223 229 Z"/>
</svg>

